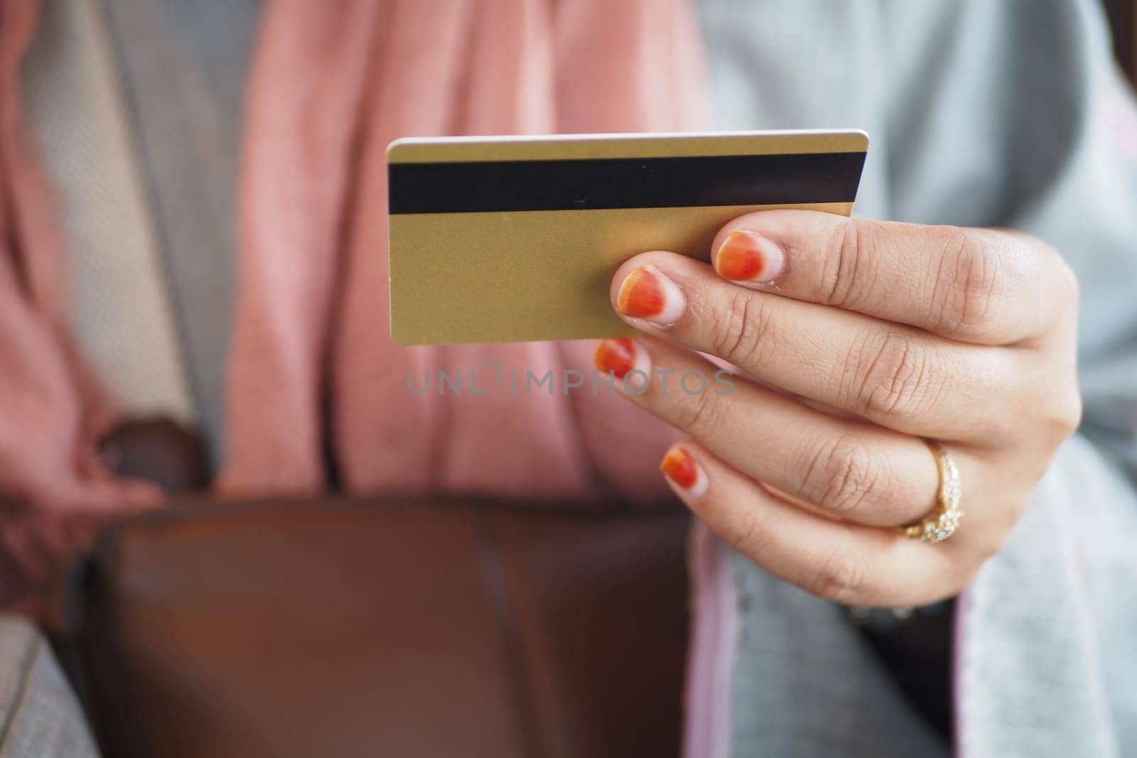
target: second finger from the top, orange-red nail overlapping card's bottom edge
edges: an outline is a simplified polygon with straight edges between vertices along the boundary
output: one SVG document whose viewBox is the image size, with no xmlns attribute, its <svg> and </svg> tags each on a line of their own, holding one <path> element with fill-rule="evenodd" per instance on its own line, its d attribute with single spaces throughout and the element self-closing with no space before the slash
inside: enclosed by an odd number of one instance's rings
<svg viewBox="0 0 1137 758">
<path fill-rule="evenodd" d="M 728 360 L 758 382 L 908 434 L 986 441 L 1006 432 L 1013 351 L 937 338 L 868 316 L 757 292 L 671 252 L 628 261 L 613 281 L 637 327 Z"/>
</svg>

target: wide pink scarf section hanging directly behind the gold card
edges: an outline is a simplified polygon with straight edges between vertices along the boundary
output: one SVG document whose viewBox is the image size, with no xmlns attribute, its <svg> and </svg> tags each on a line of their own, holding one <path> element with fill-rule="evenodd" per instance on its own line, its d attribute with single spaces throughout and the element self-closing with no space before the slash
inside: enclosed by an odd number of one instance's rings
<svg viewBox="0 0 1137 758">
<path fill-rule="evenodd" d="M 226 494 L 659 501 L 674 433 L 603 388 L 590 342 L 400 348 L 388 335 L 384 150 L 399 136 L 683 131 L 707 118 L 688 0 L 274 2 L 248 102 Z M 512 273 L 524 277 L 524 270 Z M 462 372 L 466 392 L 408 390 Z M 481 372 L 471 397 L 468 373 Z M 330 450 L 330 456 L 325 453 Z"/>
</svg>

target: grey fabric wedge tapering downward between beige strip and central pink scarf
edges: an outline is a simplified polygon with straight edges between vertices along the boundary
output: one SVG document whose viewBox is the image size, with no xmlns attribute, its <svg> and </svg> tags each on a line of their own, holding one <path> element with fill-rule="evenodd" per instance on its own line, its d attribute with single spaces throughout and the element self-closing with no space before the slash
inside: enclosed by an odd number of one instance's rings
<svg viewBox="0 0 1137 758">
<path fill-rule="evenodd" d="M 217 464 L 236 289 L 236 173 L 255 0 L 89 5 L 118 53 L 138 166 L 150 189 L 194 420 Z M 114 289 L 103 290 L 107 293 Z M 109 326 L 109 325 L 108 325 Z M 116 378 L 119 375 L 116 374 Z"/>
</svg>

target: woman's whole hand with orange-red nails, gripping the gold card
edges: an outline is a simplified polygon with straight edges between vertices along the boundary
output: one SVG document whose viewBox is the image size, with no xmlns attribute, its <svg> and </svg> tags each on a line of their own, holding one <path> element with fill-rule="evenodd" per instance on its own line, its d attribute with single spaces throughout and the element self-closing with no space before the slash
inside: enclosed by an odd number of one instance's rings
<svg viewBox="0 0 1137 758">
<path fill-rule="evenodd" d="M 665 339 L 598 353 L 601 369 L 636 374 L 629 398 L 695 438 L 664 459 L 675 492 L 755 563 L 825 598 L 914 605 L 964 586 L 1077 422 L 1069 268 L 1023 236 L 790 210 L 728 225 L 713 264 L 625 263 L 613 305 Z M 722 391 L 684 347 L 754 381 Z M 715 382 L 684 382 L 696 373 Z M 936 506 L 920 438 L 947 442 L 960 470 L 966 516 L 944 544 L 882 528 Z"/>
</svg>

